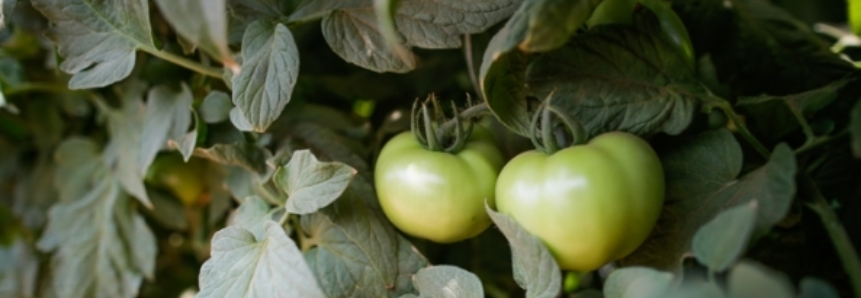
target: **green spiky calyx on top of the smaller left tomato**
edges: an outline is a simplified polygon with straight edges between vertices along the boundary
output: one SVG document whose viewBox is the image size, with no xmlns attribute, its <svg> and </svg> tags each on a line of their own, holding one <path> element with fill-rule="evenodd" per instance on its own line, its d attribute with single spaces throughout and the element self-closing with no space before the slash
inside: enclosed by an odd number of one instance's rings
<svg viewBox="0 0 861 298">
<path fill-rule="evenodd" d="M 429 108 L 428 106 L 431 106 Z M 472 128 L 480 115 L 487 112 L 486 104 L 472 105 L 467 96 L 467 109 L 459 111 L 454 101 L 451 102 L 453 116 L 446 119 L 436 96 L 431 94 L 421 102 L 413 102 L 410 129 L 422 147 L 430 151 L 446 153 L 460 152 L 466 145 Z"/>
</svg>

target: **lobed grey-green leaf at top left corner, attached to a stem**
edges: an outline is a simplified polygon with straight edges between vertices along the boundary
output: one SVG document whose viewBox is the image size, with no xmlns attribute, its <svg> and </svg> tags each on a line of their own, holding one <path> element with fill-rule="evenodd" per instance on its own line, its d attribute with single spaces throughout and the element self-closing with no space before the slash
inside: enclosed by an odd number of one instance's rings
<svg viewBox="0 0 861 298">
<path fill-rule="evenodd" d="M 145 0 L 33 0 L 55 26 L 45 35 L 65 57 L 70 89 L 104 87 L 125 79 L 138 49 L 157 51 Z"/>
</svg>

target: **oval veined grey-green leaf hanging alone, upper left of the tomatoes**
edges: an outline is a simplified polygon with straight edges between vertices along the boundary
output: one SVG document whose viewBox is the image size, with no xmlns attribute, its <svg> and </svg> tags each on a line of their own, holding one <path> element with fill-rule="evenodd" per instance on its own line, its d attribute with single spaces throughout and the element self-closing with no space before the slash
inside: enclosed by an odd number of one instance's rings
<svg viewBox="0 0 861 298">
<path fill-rule="evenodd" d="M 281 23 L 259 20 L 242 37 L 242 72 L 233 76 L 233 103 L 254 131 L 263 132 L 290 102 L 299 51 Z"/>
</svg>

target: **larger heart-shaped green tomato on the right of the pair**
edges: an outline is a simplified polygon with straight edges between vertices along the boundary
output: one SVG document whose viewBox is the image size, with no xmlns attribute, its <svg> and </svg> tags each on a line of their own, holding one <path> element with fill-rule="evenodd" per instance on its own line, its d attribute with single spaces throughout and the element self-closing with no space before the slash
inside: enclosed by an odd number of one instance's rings
<svg viewBox="0 0 861 298">
<path fill-rule="evenodd" d="M 565 270 L 592 271 L 633 252 L 664 202 L 654 150 L 624 132 L 552 155 L 512 159 L 496 184 L 496 204 L 548 247 Z"/>
</svg>

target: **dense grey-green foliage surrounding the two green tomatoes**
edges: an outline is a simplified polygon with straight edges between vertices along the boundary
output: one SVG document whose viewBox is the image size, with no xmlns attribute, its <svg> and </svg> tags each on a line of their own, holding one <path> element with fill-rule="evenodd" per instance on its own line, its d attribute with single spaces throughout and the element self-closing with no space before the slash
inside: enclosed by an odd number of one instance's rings
<svg viewBox="0 0 861 298">
<path fill-rule="evenodd" d="M 861 297 L 859 1 L 5 0 L 0 25 L 0 297 Z M 646 140 L 655 228 L 594 272 L 492 201 L 470 239 L 398 230 L 374 171 L 426 96 L 456 121 L 419 142 L 487 130 L 503 162 Z"/>
</svg>

